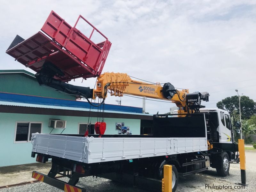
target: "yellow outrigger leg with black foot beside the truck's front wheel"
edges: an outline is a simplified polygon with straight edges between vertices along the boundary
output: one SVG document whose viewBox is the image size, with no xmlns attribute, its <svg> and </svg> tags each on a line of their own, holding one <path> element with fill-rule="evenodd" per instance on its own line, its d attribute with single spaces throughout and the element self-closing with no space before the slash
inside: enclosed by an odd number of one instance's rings
<svg viewBox="0 0 256 192">
<path fill-rule="evenodd" d="M 238 151 L 240 156 L 240 170 L 241 170 L 241 183 L 240 185 L 246 185 L 246 171 L 245 171 L 245 151 L 244 151 L 244 140 L 238 140 Z"/>
</svg>

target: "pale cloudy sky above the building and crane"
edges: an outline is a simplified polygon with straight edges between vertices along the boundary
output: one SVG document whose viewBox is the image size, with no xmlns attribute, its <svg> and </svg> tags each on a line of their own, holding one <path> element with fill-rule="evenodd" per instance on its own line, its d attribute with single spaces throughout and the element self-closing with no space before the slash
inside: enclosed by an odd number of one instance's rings
<svg viewBox="0 0 256 192">
<path fill-rule="evenodd" d="M 256 1 L 5 1 L 1 3 L 0 69 L 30 69 L 5 53 L 16 34 L 43 26 L 51 10 L 71 26 L 83 15 L 112 42 L 103 72 L 120 72 L 151 82 L 170 82 L 190 92 L 207 91 L 206 107 L 235 95 L 256 101 Z M 96 79 L 72 84 L 93 87 Z M 117 104 L 120 98 L 108 97 Z M 124 96 L 123 105 L 142 107 Z M 172 103 L 146 101 L 149 113 Z"/>
</svg>

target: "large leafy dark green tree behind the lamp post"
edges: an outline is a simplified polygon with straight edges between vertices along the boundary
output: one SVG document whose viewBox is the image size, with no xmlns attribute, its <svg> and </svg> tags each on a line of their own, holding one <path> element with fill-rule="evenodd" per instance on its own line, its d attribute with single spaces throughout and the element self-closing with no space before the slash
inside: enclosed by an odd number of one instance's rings
<svg viewBox="0 0 256 192">
<path fill-rule="evenodd" d="M 241 116 L 242 119 L 249 119 L 256 113 L 256 103 L 249 97 L 243 95 L 241 102 Z M 230 114 L 239 114 L 239 99 L 238 96 L 227 97 L 217 103 L 217 107 L 227 110 Z"/>
</svg>

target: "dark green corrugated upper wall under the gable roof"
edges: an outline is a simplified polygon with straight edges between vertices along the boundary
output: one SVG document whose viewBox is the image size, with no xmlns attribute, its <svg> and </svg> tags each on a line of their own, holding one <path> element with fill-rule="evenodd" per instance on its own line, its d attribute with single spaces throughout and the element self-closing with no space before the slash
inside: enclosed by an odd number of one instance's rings
<svg viewBox="0 0 256 192">
<path fill-rule="evenodd" d="M 51 88 L 40 86 L 35 77 L 24 73 L 0 74 L 0 82 L 0 92 L 76 100 L 74 95 L 67 95 Z"/>
</svg>

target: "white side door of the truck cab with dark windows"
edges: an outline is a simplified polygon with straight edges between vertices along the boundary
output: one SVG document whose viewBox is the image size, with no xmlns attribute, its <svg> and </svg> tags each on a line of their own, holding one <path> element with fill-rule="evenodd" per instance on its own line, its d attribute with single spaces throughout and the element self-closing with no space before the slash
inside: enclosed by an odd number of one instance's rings
<svg viewBox="0 0 256 192">
<path fill-rule="evenodd" d="M 225 114 L 224 112 L 220 112 L 220 126 L 219 126 L 219 136 L 220 143 L 232 143 L 233 133 L 231 120 L 229 114 Z"/>
</svg>

